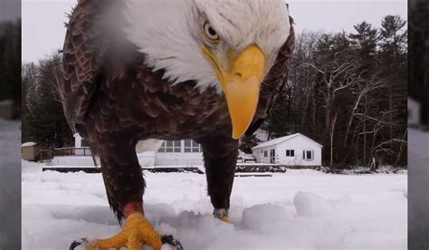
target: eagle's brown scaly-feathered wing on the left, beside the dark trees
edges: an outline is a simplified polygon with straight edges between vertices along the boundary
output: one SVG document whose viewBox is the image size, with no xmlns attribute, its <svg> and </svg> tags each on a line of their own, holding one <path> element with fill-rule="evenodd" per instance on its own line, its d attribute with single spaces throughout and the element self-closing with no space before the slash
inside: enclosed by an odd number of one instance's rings
<svg viewBox="0 0 429 250">
<path fill-rule="evenodd" d="M 100 28 L 101 0 L 80 0 L 72 10 L 62 50 L 59 87 L 65 116 L 79 130 L 97 87 L 97 79 L 108 42 Z M 103 39 L 104 38 L 104 39 Z"/>
</svg>

